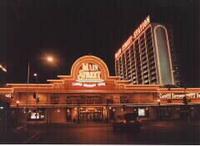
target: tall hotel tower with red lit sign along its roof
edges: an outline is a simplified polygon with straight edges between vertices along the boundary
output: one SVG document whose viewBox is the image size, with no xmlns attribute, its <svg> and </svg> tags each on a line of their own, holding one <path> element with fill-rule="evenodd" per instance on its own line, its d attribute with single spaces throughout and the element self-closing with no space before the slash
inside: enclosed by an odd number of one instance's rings
<svg viewBox="0 0 200 146">
<path fill-rule="evenodd" d="M 174 85 L 168 32 L 148 16 L 115 54 L 115 73 L 133 84 Z"/>
</svg>

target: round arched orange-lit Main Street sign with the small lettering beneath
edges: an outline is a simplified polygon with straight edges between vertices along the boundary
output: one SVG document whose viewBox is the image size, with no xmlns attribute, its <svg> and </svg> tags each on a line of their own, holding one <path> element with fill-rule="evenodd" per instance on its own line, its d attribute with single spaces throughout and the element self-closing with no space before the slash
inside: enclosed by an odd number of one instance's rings
<svg viewBox="0 0 200 146">
<path fill-rule="evenodd" d="M 105 86 L 105 77 L 108 74 L 107 66 L 97 57 L 86 56 L 76 61 L 72 68 L 75 82 L 73 86 L 97 87 Z"/>
</svg>

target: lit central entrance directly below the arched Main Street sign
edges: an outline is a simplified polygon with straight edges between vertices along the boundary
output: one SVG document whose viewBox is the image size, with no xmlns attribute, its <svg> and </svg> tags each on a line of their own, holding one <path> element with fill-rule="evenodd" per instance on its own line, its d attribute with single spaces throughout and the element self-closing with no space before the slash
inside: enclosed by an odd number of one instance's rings
<svg viewBox="0 0 200 146">
<path fill-rule="evenodd" d="M 104 95 L 67 96 L 67 103 L 67 121 L 103 122 L 108 119 L 108 104 Z"/>
</svg>

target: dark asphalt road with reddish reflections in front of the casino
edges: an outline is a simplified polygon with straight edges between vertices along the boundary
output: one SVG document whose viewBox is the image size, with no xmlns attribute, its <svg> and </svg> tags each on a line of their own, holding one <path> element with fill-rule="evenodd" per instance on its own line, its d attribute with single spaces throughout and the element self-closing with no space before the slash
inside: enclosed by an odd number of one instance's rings
<svg viewBox="0 0 200 146">
<path fill-rule="evenodd" d="M 200 144 L 198 121 L 146 122 L 139 133 L 114 132 L 111 124 L 105 123 L 29 125 L 28 129 L 30 136 L 17 143 Z"/>
</svg>

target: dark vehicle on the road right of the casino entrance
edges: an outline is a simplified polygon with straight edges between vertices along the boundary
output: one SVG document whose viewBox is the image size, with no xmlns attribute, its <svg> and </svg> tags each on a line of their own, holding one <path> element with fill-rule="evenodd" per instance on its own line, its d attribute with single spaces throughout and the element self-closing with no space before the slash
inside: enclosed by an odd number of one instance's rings
<svg viewBox="0 0 200 146">
<path fill-rule="evenodd" d="M 118 115 L 113 122 L 114 131 L 135 131 L 139 132 L 142 127 L 141 121 L 138 120 L 137 113 L 125 113 Z"/>
</svg>

